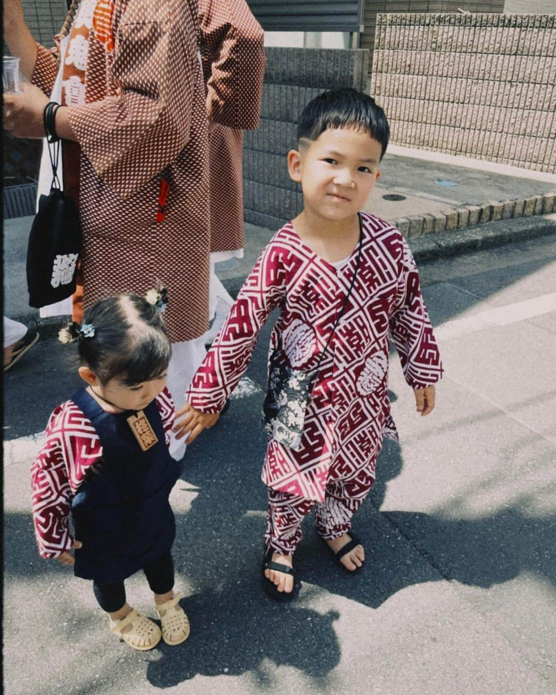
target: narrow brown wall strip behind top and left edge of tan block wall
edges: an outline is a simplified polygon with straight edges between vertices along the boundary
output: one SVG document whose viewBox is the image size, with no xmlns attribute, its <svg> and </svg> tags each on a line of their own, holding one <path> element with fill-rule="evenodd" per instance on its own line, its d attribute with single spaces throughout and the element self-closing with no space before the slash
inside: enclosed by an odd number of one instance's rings
<svg viewBox="0 0 556 695">
<path fill-rule="evenodd" d="M 510 0 L 506 0 L 507 2 Z M 514 0 L 517 1 L 517 0 Z M 535 2 L 537 0 L 532 0 Z M 548 0 L 554 1 L 554 0 Z M 361 48 L 370 50 L 369 70 L 373 67 L 373 50 L 375 49 L 375 28 L 378 13 L 457 13 L 457 9 L 469 12 L 500 13 L 504 9 L 504 0 L 466 1 L 462 0 L 365 0 L 363 6 L 363 25 L 365 31 L 361 34 Z"/>
</svg>

